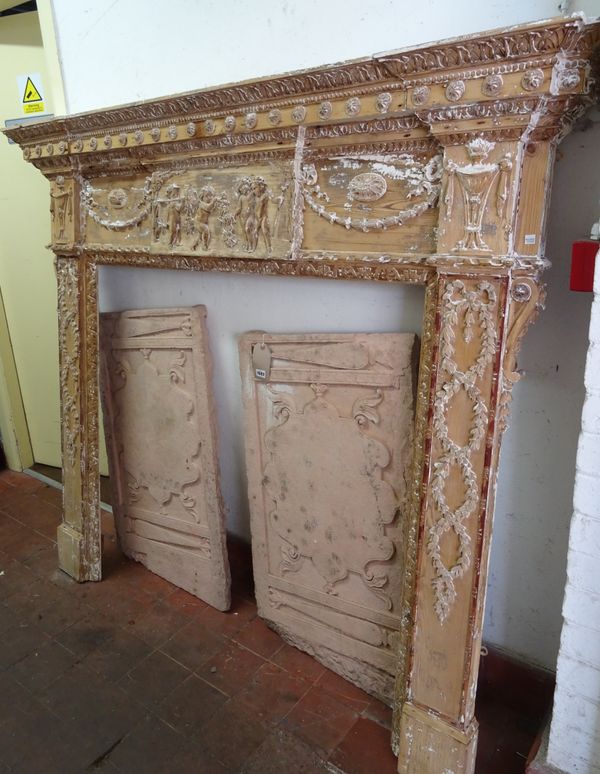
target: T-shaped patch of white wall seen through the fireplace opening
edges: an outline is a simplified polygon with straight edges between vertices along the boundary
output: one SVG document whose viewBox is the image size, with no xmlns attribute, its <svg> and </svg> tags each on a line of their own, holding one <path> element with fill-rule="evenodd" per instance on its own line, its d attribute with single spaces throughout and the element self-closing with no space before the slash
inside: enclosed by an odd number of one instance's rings
<svg viewBox="0 0 600 774">
<path fill-rule="evenodd" d="M 250 537 L 237 337 L 273 333 L 420 330 L 424 291 L 373 282 L 190 274 L 101 267 L 103 311 L 204 304 L 214 360 L 221 486 L 228 528 Z"/>
</svg>

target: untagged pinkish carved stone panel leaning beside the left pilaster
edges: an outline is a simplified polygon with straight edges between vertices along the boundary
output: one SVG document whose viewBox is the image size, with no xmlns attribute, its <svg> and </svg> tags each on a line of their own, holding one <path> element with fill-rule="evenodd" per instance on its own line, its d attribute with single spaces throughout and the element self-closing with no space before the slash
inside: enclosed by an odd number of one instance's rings
<svg viewBox="0 0 600 774">
<path fill-rule="evenodd" d="M 205 318 L 202 306 L 101 315 L 103 397 L 124 552 L 227 610 Z"/>
</svg>

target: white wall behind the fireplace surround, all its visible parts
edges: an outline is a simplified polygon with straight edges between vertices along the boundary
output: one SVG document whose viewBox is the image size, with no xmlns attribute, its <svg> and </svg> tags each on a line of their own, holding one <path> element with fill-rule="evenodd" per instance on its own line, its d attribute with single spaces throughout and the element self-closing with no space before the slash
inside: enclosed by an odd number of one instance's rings
<svg viewBox="0 0 600 774">
<path fill-rule="evenodd" d="M 558 0 L 52 2 L 70 112 L 559 14 Z M 584 0 L 579 9 L 598 15 L 600 0 Z M 521 357 L 528 378 L 515 389 L 513 427 L 505 439 L 485 628 L 488 642 L 550 668 L 560 631 L 590 306 L 587 296 L 568 292 L 566 277 L 570 243 L 585 235 L 600 197 L 592 181 L 600 162 L 598 127 L 567 138 L 562 153 L 548 245 L 557 265 L 548 274 L 549 311 Z M 235 335 L 252 328 L 419 330 L 421 299 L 414 288 L 325 280 L 124 269 L 101 274 L 105 310 L 208 306 L 230 527 L 246 534 Z"/>
</svg>

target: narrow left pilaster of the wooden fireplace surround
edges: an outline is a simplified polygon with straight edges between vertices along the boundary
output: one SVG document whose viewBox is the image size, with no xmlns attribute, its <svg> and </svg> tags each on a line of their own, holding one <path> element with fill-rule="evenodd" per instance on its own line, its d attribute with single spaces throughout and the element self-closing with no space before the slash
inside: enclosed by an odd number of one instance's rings
<svg viewBox="0 0 600 774">
<path fill-rule="evenodd" d="M 56 271 L 64 484 L 59 565 L 77 580 L 99 580 L 96 266 L 59 255 Z"/>
</svg>

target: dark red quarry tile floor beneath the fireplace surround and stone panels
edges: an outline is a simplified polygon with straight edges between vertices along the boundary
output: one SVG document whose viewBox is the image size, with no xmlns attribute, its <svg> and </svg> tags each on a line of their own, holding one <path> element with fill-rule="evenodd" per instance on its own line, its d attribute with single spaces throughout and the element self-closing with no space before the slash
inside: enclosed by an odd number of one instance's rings
<svg viewBox="0 0 600 774">
<path fill-rule="evenodd" d="M 256 615 L 249 551 L 232 543 L 220 613 L 120 553 L 105 580 L 57 569 L 60 492 L 0 473 L 0 774 L 394 774 L 391 711 L 283 643 Z M 525 706 L 484 664 L 478 774 L 520 774 L 551 698 Z"/>
</svg>

